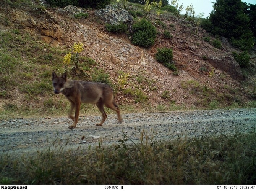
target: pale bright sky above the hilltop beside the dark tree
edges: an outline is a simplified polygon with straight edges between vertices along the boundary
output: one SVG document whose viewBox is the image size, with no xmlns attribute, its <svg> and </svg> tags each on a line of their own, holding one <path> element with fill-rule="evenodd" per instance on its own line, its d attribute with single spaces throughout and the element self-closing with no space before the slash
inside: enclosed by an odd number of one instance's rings
<svg viewBox="0 0 256 191">
<path fill-rule="evenodd" d="M 194 11 L 196 12 L 195 16 L 198 15 L 198 13 L 204 13 L 203 18 L 206 18 L 209 16 L 212 8 L 212 3 L 215 2 L 215 0 L 178 0 L 179 5 L 183 3 L 183 12 L 181 14 L 185 14 L 185 8 L 192 3 L 192 6 L 194 8 Z M 171 2 L 171 0 L 169 0 Z M 247 4 L 256 4 L 256 0 L 242 0 L 242 2 L 245 2 Z"/>
</svg>

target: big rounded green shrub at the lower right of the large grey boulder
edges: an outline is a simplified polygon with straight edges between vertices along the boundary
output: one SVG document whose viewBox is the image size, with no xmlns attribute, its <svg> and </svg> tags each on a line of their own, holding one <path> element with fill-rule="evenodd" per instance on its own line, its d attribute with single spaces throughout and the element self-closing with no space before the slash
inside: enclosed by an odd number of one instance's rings
<svg viewBox="0 0 256 191">
<path fill-rule="evenodd" d="M 132 35 L 133 45 L 138 45 L 145 48 L 149 48 L 154 45 L 156 38 L 156 27 L 154 27 L 150 21 L 143 18 L 141 21 L 137 21 L 133 24 L 132 30 L 134 32 Z"/>
</svg>

